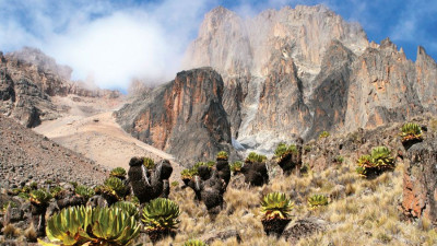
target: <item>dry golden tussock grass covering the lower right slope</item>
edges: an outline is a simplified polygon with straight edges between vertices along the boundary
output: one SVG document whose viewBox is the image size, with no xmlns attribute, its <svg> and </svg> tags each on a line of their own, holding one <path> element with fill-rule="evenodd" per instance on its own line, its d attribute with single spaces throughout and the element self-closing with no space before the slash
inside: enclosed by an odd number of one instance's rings
<svg viewBox="0 0 437 246">
<path fill-rule="evenodd" d="M 190 238 L 208 239 L 218 232 L 236 230 L 240 245 L 290 245 L 284 238 L 268 237 L 261 224 L 260 198 L 271 191 L 285 192 L 295 202 L 293 220 L 308 216 L 327 222 L 323 232 L 300 238 L 297 245 L 437 245 L 437 232 L 429 221 L 410 223 L 401 220 L 398 209 L 402 196 L 403 164 L 393 172 L 368 180 L 355 173 L 355 162 L 345 159 L 323 172 L 284 177 L 275 174 L 269 185 L 259 188 L 228 187 L 222 212 L 211 220 L 203 203 L 194 201 L 191 189 L 172 192 L 181 210 L 180 226 L 175 238 L 157 245 L 182 245 Z M 342 190 L 339 187 L 344 186 Z M 343 192 L 341 195 L 340 192 Z M 314 194 L 330 195 L 330 203 L 310 210 L 307 198 Z M 238 245 L 235 237 L 211 245 Z"/>
</svg>

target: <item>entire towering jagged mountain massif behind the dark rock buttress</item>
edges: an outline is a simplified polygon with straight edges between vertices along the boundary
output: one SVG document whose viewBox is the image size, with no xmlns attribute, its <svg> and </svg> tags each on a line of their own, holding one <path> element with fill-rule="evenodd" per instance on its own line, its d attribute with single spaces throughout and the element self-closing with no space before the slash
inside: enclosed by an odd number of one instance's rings
<svg viewBox="0 0 437 246">
<path fill-rule="evenodd" d="M 416 62 L 322 5 L 267 10 L 252 19 L 216 8 L 186 52 L 186 68 L 211 66 L 224 79 L 234 145 L 269 153 L 279 141 L 322 130 L 405 121 L 435 113 L 437 66 Z"/>
</svg>

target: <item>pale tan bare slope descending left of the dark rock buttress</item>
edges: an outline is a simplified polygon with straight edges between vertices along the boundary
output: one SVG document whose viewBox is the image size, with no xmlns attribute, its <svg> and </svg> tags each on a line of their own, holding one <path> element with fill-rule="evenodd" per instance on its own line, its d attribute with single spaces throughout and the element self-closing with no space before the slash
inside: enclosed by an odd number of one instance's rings
<svg viewBox="0 0 437 246">
<path fill-rule="evenodd" d="M 113 112 L 122 105 L 121 101 L 76 96 L 55 99 L 59 106 L 70 109 L 64 117 L 36 127 L 36 132 L 108 167 L 129 168 L 132 156 L 149 156 L 155 162 L 167 159 L 175 168 L 172 176 L 179 176 L 179 165 L 172 155 L 137 140 L 116 122 Z"/>
</svg>

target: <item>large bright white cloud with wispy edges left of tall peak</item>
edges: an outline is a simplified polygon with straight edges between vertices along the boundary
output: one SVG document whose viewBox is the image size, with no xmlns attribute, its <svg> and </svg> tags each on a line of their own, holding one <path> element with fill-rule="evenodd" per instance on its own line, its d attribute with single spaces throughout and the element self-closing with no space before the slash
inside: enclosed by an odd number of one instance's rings
<svg viewBox="0 0 437 246">
<path fill-rule="evenodd" d="M 73 79 L 127 89 L 132 78 L 173 79 L 203 13 L 214 0 L 0 0 L 0 50 L 34 46 L 73 69 Z M 11 37 L 11 38 L 5 38 Z"/>
</svg>

